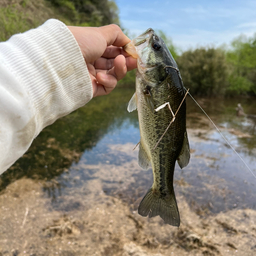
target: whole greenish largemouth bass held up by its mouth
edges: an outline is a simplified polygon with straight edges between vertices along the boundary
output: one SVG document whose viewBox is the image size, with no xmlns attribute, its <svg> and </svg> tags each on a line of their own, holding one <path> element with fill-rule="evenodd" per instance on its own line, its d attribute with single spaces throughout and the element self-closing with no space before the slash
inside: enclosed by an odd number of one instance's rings
<svg viewBox="0 0 256 256">
<path fill-rule="evenodd" d="M 178 66 L 161 37 L 151 28 L 124 46 L 137 58 L 136 90 L 127 110 L 137 109 L 140 142 L 138 163 L 152 166 L 153 185 L 140 202 L 138 213 L 160 216 L 180 226 L 173 187 L 175 163 L 188 165 L 190 147 L 186 130 L 186 89 Z"/>
</svg>

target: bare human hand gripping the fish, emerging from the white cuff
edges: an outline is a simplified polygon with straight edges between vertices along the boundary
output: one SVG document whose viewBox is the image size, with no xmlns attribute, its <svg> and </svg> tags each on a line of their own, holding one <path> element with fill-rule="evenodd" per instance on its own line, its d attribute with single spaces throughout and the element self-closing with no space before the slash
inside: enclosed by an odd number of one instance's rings
<svg viewBox="0 0 256 256">
<path fill-rule="evenodd" d="M 137 67 L 136 60 L 121 48 L 131 40 L 117 25 L 68 28 L 87 64 L 93 97 L 110 93 L 127 71 Z"/>
</svg>

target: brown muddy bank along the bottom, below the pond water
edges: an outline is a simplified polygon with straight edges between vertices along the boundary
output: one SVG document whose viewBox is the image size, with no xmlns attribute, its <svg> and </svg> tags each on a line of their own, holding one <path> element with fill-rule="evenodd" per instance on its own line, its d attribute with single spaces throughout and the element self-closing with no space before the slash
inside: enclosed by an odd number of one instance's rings
<svg viewBox="0 0 256 256">
<path fill-rule="evenodd" d="M 256 212 L 250 209 L 200 218 L 178 196 L 182 221 L 175 228 L 140 217 L 106 195 L 99 180 L 81 188 L 83 198 L 63 196 L 62 210 L 52 207 L 42 185 L 21 179 L 0 195 L 1 255 L 256 254 Z"/>
</svg>

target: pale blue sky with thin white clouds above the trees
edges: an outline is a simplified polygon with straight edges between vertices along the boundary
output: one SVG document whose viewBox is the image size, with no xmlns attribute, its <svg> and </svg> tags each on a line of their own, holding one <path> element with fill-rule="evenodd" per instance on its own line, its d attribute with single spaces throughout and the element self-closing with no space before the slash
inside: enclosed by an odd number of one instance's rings
<svg viewBox="0 0 256 256">
<path fill-rule="evenodd" d="M 256 33 L 256 0 L 116 0 L 121 26 L 132 36 L 162 30 L 178 49 L 229 46 Z"/>
</svg>

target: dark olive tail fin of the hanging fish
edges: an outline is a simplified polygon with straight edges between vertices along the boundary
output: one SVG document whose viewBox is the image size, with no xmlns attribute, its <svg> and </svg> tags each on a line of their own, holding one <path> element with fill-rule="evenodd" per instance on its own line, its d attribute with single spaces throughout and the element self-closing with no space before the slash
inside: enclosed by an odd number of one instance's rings
<svg viewBox="0 0 256 256">
<path fill-rule="evenodd" d="M 160 193 L 154 193 L 151 188 L 140 202 L 138 213 L 144 217 L 149 216 L 149 218 L 159 215 L 165 223 L 180 226 L 180 215 L 174 191 L 162 196 Z"/>
</svg>

